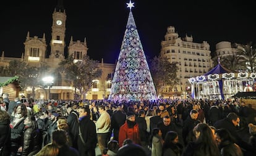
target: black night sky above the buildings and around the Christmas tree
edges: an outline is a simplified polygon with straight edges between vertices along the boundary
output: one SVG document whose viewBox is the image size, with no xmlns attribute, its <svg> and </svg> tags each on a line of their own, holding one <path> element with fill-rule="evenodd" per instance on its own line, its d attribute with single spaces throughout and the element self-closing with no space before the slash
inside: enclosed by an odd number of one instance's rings
<svg viewBox="0 0 256 156">
<path fill-rule="evenodd" d="M 161 41 L 170 25 L 179 37 L 192 35 L 195 43 L 207 41 L 210 50 L 220 41 L 247 44 L 256 41 L 256 2 L 190 0 L 132 0 L 132 8 L 143 50 L 148 59 L 158 55 Z M 118 59 L 126 30 L 129 0 L 64 0 L 66 45 L 87 38 L 88 55 L 95 60 L 114 63 Z M 1 2 L 3 3 L 3 2 Z M 8 1 L 0 9 L 0 54 L 21 57 L 27 32 L 30 37 L 51 39 L 52 14 L 56 0 Z M 213 55 L 213 54 L 212 54 Z"/>
</svg>

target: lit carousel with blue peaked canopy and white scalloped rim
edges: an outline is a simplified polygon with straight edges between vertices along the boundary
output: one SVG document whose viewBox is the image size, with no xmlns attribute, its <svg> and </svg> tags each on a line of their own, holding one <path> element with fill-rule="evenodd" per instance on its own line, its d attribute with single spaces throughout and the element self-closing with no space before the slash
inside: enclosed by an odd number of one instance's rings
<svg viewBox="0 0 256 156">
<path fill-rule="evenodd" d="M 220 62 L 205 75 L 189 78 L 192 99 L 228 99 L 237 92 L 256 91 L 256 73 L 233 72 Z"/>
</svg>

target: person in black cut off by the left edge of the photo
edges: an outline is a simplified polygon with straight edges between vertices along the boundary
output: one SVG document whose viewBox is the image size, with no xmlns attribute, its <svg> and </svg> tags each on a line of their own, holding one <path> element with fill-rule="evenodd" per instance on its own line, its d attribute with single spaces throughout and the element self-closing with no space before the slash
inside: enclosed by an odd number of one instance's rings
<svg viewBox="0 0 256 156">
<path fill-rule="evenodd" d="M 0 156 L 11 154 L 11 118 L 6 110 L 0 110 Z"/>
</svg>

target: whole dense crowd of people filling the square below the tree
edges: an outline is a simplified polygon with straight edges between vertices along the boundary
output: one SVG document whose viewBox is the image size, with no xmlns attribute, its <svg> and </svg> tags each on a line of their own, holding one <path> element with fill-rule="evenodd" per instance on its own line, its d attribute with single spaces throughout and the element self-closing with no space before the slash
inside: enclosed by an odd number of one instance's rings
<svg viewBox="0 0 256 156">
<path fill-rule="evenodd" d="M 20 100 L 0 97 L 2 155 L 254 155 L 256 110 L 236 99 Z"/>
</svg>

